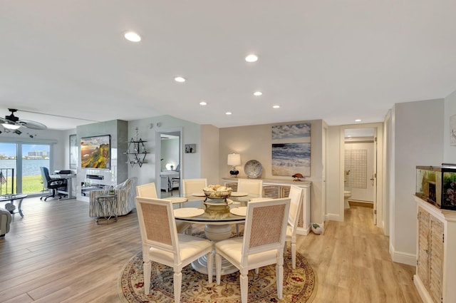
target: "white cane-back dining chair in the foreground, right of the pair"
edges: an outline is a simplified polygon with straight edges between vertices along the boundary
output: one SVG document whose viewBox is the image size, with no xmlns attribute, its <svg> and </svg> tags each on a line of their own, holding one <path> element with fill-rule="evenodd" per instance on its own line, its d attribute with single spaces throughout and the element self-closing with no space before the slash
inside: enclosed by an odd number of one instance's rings
<svg viewBox="0 0 456 303">
<path fill-rule="evenodd" d="M 241 301 L 247 303 L 250 269 L 276 265 L 277 297 L 284 284 L 284 245 L 290 199 L 271 199 L 247 204 L 244 237 L 215 243 L 215 272 L 220 284 L 222 257 L 239 269 Z"/>
</svg>

